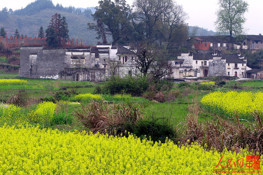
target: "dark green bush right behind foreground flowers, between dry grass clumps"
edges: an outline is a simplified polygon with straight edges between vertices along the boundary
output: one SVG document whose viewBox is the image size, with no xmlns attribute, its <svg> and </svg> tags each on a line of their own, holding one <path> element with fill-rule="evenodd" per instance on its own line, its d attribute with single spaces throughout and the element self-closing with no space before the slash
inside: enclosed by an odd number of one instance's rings
<svg viewBox="0 0 263 175">
<path fill-rule="evenodd" d="M 141 139 L 144 139 L 146 136 L 146 138 L 150 137 L 153 142 L 159 142 L 160 140 L 162 143 L 165 143 L 166 138 L 174 140 L 176 136 L 174 129 L 170 125 L 160 123 L 157 119 L 138 121 L 133 133 Z"/>
</svg>

